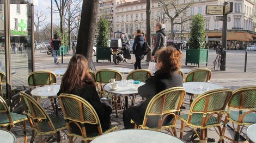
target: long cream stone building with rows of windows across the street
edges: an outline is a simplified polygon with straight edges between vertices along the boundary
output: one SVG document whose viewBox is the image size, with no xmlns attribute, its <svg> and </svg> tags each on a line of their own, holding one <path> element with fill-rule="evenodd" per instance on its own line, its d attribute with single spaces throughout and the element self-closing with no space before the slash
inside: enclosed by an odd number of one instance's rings
<svg viewBox="0 0 256 143">
<path fill-rule="evenodd" d="M 137 29 L 146 32 L 146 0 L 139 0 L 133 2 L 118 3 L 115 8 L 114 16 L 114 30 L 124 31 L 130 37 Z M 222 21 L 218 21 L 216 15 L 206 15 L 206 5 L 218 5 L 218 1 L 210 0 L 191 0 L 177 1 L 177 5 L 185 5 L 191 2 L 192 5 L 186 10 L 184 14 L 175 18 L 174 22 L 180 22 L 182 18 L 201 14 L 205 18 L 205 30 L 209 37 L 210 43 L 221 42 L 222 37 Z M 255 1 L 229 1 L 233 2 L 233 12 L 228 15 L 230 21 L 228 22 L 228 46 L 233 44 L 246 43 L 252 44 L 255 37 Z M 223 5 L 223 4 L 221 4 Z M 169 14 L 175 14 L 173 8 L 169 8 Z M 155 33 L 154 23 L 162 22 L 167 31 L 167 38 L 171 39 L 170 19 L 164 14 L 161 3 L 153 0 L 151 3 L 151 32 Z M 188 40 L 188 32 L 190 31 L 190 21 L 184 24 L 175 24 L 174 40 L 176 42 L 186 42 Z M 241 37 L 241 38 L 239 38 Z M 211 45 L 211 44 L 210 44 Z"/>
</svg>

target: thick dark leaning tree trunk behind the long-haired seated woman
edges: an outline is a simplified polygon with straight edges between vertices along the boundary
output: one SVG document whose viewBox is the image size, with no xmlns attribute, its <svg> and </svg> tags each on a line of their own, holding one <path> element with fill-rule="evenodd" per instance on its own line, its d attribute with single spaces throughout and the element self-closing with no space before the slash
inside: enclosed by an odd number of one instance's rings
<svg viewBox="0 0 256 143">
<path fill-rule="evenodd" d="M 98 6 L 99 0 L 84 0 L 82 5 L 76 54 L 84 55 L 88 61 L 92 61 Z"/>
</svg>

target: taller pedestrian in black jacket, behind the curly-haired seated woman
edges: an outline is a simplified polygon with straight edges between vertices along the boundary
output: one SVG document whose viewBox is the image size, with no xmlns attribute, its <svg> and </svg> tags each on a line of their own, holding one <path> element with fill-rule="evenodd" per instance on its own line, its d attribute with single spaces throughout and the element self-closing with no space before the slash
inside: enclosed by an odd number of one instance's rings
<svg viewBox="0 0 256 143">
<path fill-rule="evenodd" d="M 166 47 L 166 42 L 167 42 L 167 38 L 166 38 L 166 31 L 164 29 L 162 29 L 162 23 L 157 22 L 155 25 L 155 31 L 156 31 L 156 36 L 155 36 L 155 47 L 152 51 L 152 55 L 151 55 L 151 59 L 154 60 L 155 59 L 155 53 L 156 50 L 162 48 L 162 47 Z"/>
</svg>

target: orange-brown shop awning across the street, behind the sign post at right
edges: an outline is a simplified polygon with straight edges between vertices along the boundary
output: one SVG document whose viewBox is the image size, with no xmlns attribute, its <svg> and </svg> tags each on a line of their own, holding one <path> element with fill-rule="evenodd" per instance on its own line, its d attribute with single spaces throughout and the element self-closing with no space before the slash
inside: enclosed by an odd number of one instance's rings
<svg viewBox="0 0 256 143">
<path fill-rule="evenodd" d="M 222 32 L 208 32 L 207 34 L 209 38 L 222 37 Z M 228 32 L 227 40 L 248 42 L 252 41 L 254 36 L 256 37 L 256 35 L 248 32 Z"/>
</svg>

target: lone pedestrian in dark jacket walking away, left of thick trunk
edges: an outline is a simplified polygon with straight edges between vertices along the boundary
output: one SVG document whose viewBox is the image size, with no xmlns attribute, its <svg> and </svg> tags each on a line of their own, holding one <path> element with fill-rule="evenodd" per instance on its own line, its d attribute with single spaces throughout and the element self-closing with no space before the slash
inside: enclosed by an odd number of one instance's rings
<svg viewBox="0 0 256 143">
<path fill-rule="evenodd" d="M 52 47 L 52 55 L 54 58 L 54 63 L 59 63 L 58 59 L 58 53 L 59 53 L 59 47 L 62 45 L 62 42 L 60 41 L 60 38 L 58 37 L 57 34 L 53 35 L 53 38 L 51 40 L 51 47 Z"/>
</svg>

